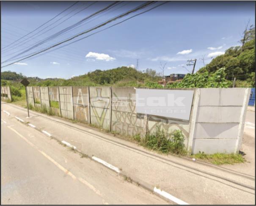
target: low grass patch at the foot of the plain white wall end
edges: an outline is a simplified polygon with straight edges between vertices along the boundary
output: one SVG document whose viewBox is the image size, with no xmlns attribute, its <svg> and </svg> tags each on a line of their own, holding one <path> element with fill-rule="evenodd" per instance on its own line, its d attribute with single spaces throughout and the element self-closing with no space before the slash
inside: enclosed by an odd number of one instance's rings
<svg viewBox="0 0 256 206">
<path fill-rule="evenodd" d="M 241 154 L 226 154 L 226 153 L 215 153 L 215 154 L 204 154 L 204 152 L 199 152 L 198 154 L 193 154 L 190 157 L 195 159 L 201 159 L 206 162 L 211 162 L 215 165 L 233 165 L 235 163 L 245 162 L 245 159 Z"/>
</svg>

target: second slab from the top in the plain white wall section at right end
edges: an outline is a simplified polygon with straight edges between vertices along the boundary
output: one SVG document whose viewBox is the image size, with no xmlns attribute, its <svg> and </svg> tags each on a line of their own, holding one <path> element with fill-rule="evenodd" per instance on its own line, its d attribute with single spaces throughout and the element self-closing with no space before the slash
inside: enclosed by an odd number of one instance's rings
<svg viewBox="0 0 256 206">
<path fill-rule="evenodd" d="M 242 107 L 198 107 L 196 122 L 239 123 Z"/>
</svg>

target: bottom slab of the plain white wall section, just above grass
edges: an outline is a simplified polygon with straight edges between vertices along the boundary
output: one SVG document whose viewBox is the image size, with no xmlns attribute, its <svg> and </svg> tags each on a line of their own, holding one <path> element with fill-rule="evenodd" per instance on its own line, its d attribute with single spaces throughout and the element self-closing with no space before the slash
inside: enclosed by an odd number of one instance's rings
<svg viewBox="0 0 256 206">
<path fill-rule="evenodd" d="M 234 153 L 236 139 L 195 139 L 193 142 L 193 154 L 199 151 L 206 154 Z"/>
</svg>

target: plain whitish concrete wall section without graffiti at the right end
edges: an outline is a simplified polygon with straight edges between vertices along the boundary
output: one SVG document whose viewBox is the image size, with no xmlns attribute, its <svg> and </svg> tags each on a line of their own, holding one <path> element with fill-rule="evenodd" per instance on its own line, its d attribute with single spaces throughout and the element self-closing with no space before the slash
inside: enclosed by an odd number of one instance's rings
<svg viewBox="0 0 256 206">
<path fill-rule="evenodd" d="M 248 104 L 248 88 L 201 88 L 193 153 L 239 151 Z"/>
</svg>

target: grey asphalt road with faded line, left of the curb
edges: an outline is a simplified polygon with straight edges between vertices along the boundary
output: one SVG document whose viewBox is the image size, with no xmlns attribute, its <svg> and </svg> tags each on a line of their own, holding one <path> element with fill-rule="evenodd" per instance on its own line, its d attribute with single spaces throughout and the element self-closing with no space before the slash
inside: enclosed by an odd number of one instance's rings
<svg viewBox="0 0 256 206">
<path fill-rule="evenodd" d="M 1 204 L 170 204 L 1 112 Z"/>
</svg>

